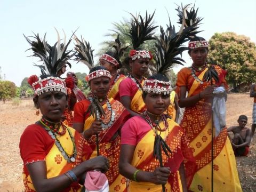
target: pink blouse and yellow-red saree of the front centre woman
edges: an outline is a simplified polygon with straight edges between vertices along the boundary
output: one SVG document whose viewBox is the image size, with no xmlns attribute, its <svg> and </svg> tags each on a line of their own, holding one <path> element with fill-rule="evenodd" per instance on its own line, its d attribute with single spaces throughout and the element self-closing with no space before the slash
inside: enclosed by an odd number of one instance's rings
<svg viewBox="0 0 256 192">
<path fill-rule="evenodd" d="M 189 142 L 181 127 L 172 119 L 167 119 L 168 129 L 161 132 L 161 137 L 170 147 L 172 154 L 170 158 L 162 151 L 163 164 L 169 166 L 171 170 L 170 177 L 165 185 L 167 191 L 182 191 L 179 175 L 180 164 L 184 161 L 186 169 L 187 185 L 193 179 L 196 165 L 192 151 L 189 148 Z M 163 122 L 159 124 L 164 127 Z M 143 171 L 153 172 L 159 167 L 159 162 L 153 157 L 153 148 L 155 141 L 155 132 L 150 125 L 141 116 L 130 118 L 123 126 L 121 131 L 121 145 L 133 145 L 135 147 L 131 165 Z M 129 191 L 162 191 L 162 185 L 155 185 L 148 182 L 130 181 Z"/>
</svg>

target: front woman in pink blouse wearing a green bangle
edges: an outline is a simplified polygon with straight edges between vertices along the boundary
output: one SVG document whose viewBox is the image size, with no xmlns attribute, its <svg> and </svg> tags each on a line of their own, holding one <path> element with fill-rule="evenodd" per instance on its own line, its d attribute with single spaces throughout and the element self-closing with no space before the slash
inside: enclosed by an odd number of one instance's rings
<svg viewBox="0 0 256 192">
<path fill-rule="evenodd" d="M 130 118 L 122 128 L 119 169 L 129 179 L 127 191 L 162 191 L 162 185 L 165 191 L 187 191 L 193 178 L 195 162 L 184 131 L 163 114 L 170 104 L 170 84 L 162 74 L 149 77 L 142 95 L 147 110 Z M 156 135 L 171 150 L 165 153 L 168 149 L 161 147 L 163 167 L 154 157 Z"/>
</svg>

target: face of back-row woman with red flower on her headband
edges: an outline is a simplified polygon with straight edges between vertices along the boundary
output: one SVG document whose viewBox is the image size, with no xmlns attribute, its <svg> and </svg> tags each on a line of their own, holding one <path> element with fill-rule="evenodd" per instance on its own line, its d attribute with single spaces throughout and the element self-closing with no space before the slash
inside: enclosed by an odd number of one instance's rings
<svg viewBox="0 0 256 192">
<path fill-rule="evenodd" d="M 149 59 L 140 58 L 134 61 L 130 60 L 130 67 L 132 69 L 132 74 L 137 77 L 142 77 L 148 70 Z"/>
</svg>

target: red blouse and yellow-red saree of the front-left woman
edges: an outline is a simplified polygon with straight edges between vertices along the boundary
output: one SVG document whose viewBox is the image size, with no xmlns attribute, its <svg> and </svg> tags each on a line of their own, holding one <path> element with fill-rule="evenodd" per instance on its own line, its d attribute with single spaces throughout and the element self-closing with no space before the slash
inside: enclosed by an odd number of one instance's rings
<svg viewBox="0 0 256 192">
<path fill-rule="evenodd" d="M 69 127 L 71 134 L 75 139 L 77 151 L 76 161 L 68 163 L 61 155 L 61 151 L 54 144 L 55 140 L 51 138 L 48 132 L 37 124 L 29 125 L 22 133 L 20 138 L 20 155 L 23 161 L 23 182 L 26 191 L 35 191 L 33 182 L 31 181 L 26 164 L 38 161 L 45 161 L 47 178 L 57 177 L 68 170 L 73 169 L 81 162 L 89 159 L 92 150 L 86 140 L 80 133 Z M 70 139 L 69 132 L 66 131 L 61 135 L 60 143 L 67 154 L 73 153 L 73 143 Z M 81 185 L 73 182 L 70 187 L 63 191 L 80 191 Z"/>
</svg>

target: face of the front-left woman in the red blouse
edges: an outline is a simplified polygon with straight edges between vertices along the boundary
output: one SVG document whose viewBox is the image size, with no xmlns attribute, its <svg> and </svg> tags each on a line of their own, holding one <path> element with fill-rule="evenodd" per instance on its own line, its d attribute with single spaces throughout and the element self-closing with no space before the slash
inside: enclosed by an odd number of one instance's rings
<svg viewBox="0 0 256 192">
<path fill-rule="evenodd" d="M 33 100 L 43 117 L 53 122 L 60 121 L 68 104 L 66 94 L 60 91 L 45 92 Z"/>
</svg>

